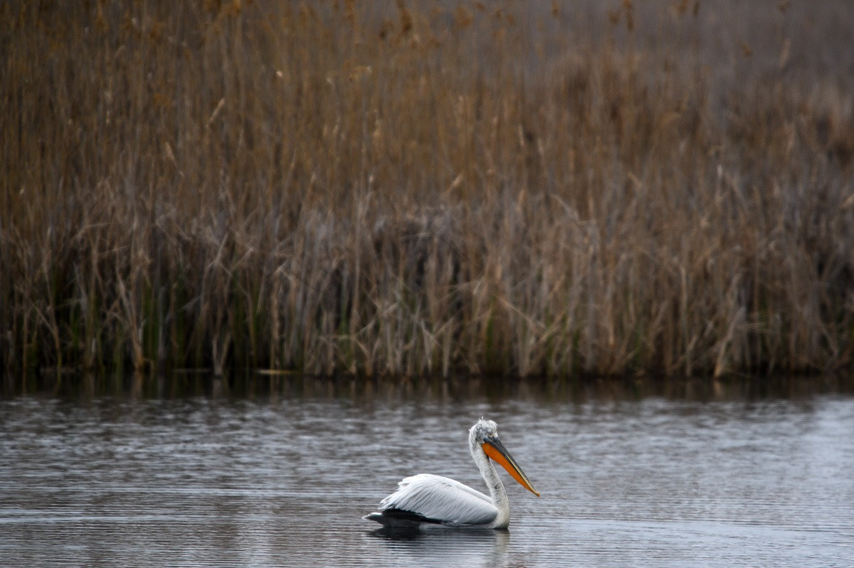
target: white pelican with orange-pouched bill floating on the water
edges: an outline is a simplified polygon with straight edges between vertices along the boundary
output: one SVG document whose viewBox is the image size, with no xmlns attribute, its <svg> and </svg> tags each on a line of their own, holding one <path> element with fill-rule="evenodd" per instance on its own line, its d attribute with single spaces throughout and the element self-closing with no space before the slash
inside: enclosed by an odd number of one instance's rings
<svg viewBox="0 0 854 568">
<path fill-rule="evenodd" d="M 498 426 L 492 420 L 482 418 L 471 426 L 469 449 L 489 488 L 489 496 L 453 479 L 418 473 L 404 478 L 394 493 L 380 501 L 378 513 L 365 515 L 362 519 L 377 521 L 387 527 L 416 527 L 432 523 L 506 529 L 510 525 L 510 502 L 492 461 L 504 467 L 526 490 L 538 497 L 540 494 L 504 444 L 500 443 Z"/>
</svg>

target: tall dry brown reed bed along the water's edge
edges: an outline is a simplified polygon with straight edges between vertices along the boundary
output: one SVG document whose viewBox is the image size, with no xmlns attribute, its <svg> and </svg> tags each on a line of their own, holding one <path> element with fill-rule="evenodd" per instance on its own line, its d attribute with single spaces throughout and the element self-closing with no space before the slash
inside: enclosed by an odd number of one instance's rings
<svg viewBox="0 0 854 568">
<path fill-rule="evenodd" d="M 2 367 L 850 368 L 849 12 L 3 3 Z"/>
</svg>

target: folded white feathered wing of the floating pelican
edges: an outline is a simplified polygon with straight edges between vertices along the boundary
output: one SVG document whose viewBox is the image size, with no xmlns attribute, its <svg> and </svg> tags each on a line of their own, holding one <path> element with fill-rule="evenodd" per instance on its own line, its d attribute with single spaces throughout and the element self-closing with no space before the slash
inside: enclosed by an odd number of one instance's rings
<svg viewBox="0 0 854 568">
<path fill-rule="evenodd" d="M 453 479 L 420 473 L 398 485 L 380 502 L 380 511 L 415 513 L 445 525 L 488 525 L 498 516 L 488 496 Z"/>
</svg>

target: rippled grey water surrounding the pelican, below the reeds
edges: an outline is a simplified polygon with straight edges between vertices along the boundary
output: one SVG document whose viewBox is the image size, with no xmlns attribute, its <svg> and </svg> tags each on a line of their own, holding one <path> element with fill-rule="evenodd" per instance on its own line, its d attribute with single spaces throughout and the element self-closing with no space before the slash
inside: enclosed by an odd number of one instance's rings
<svg viewBox="0 0 854 568">
<path fill-rule="evenodd" d="M 0 401 L 0 565 L 854 565 L 848 394 L 368 386 Z M 415 472 L 483 490 L 482 415 L 542 495 L 502 472 L 510 530 L 360 519 Z"/>
</svg>

